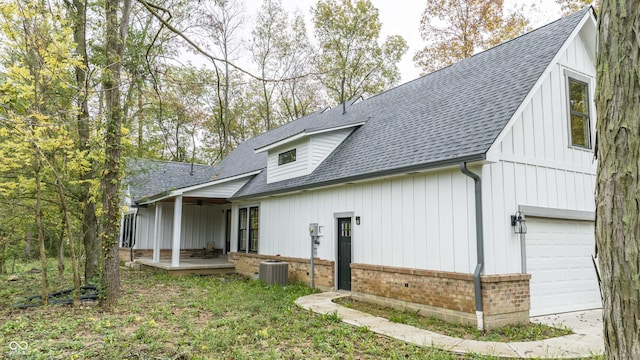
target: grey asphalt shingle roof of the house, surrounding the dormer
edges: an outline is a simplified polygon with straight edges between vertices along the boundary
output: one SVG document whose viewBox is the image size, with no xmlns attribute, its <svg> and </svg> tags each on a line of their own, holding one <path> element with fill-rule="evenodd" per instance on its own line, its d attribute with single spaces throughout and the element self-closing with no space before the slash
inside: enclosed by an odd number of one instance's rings
<svg viewBox="0 0 640 360">
<path fill-rule="evenodd" d="M 465 160 L 480 160 L 590 8 L 366 100 L 318 111 L 247 140 L 215 167 L 141 161 L 132 197 L 262 170 L 255 149 L 301 132 L 366 122 L 311 174 L 267 184 L 266 171 L 234 198 L 348 182 Z M 135 164 L 135 163 L 134 163 Z M 144 165 L 144 166 L 143 166 Z M 153 175 L 149 176 L 149 172 Z"/>
</svg>

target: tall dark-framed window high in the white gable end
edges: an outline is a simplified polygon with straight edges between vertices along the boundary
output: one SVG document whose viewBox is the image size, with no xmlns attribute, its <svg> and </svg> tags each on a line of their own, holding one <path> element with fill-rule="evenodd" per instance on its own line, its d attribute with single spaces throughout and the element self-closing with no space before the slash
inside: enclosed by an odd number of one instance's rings
<svg viewBox="0 0 640 360">
<path fill-rule="evenodd" d="M 573 78 L 568 80 L 571 145 L 591 149 L 589 86 L 586 82 Z"/>
</svg>

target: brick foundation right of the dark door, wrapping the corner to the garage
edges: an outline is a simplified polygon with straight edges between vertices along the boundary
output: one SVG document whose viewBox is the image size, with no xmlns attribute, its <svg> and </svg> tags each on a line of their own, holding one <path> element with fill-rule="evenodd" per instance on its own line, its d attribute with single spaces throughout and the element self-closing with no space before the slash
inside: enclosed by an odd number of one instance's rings
<svg viewBox="0 0 640 360">
<path fill-rule="evenodd" d="M 351 277 L 355 298 L 476 324 L 471 274 L 351 264 Z M 485 328 L 529 321 L 529 279 L 526 274 L 481 276 Z"/>
</svg>

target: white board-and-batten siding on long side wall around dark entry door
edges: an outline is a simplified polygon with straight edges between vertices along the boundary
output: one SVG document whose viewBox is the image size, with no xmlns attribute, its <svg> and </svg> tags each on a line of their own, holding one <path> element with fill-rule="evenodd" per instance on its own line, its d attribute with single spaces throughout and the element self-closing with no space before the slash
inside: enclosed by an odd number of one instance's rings
<svg viewBox="0 0 640 360">
<path fill-rule="evenodd" d="M 336 218 L 350 213 L 360 217 L 352 220 L 354 263 L 471 273 L 473 186 L 456 168 L 263 198 L 259 252 L 308 258 L 308 227 L 318 223 L 318 257 L 336 260 Z M 234 204 L 234 214 L 246 205 Z M 232 239 L 237 246 L 237 223 Z"/>
</svg>

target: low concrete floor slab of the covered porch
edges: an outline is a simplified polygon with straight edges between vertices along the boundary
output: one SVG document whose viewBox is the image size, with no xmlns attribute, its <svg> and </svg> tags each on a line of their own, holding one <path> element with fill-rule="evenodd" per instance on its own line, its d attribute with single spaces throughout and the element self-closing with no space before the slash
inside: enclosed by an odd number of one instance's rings
<svg viewBox="0 0 640 360">
<path fill-rule="evenodd" d="M 226 255 L 220 255 L 212 259 L 181 258 L 180 265 L 171 266 L 171 259 L 160 258 L 160 262 L 154 263 L 152 258 L 136 258 L 135 262 L 143 269 L 155 270 L 169 275 L 214 275 L 236 272 L 236 266 L 227 261 Z"/>
</svg>

